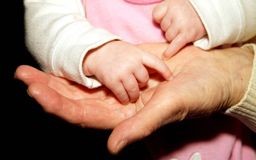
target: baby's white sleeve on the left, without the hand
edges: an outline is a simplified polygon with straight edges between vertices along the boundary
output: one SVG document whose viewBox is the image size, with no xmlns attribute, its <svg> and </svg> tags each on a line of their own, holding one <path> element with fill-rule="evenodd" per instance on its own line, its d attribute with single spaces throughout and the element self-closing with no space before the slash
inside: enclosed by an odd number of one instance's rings
<svg viewBox="0 0 256 160">
<path fill-rule="evenodd" d="M 84 76 L 88 51 L 121 37 L 94 28 L 86 19 L 81 0 L 24 0 L 25 43 L 41 70 L 76 81 L 88 88 L 102 85 Z"/>
</svg>

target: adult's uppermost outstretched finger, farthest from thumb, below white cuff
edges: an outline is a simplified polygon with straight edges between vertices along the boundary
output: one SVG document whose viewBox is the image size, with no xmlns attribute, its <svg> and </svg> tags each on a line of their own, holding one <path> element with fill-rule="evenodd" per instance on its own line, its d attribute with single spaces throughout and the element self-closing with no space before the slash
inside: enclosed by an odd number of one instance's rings
<svg viewBox="0 0 256 160">
<path fill-rule="evenodd" d="M 71 99 L 104 98 L 109 92 L 107 88 L 90 90 L 81 85 L 72 85 L 74 83 L 72 81 L 44 73 L 26 65 L 19 66 L 15 71 L 15 76 L 28 86 L 32 83 L 45 84 L 61 95 Z"/>
</svg>

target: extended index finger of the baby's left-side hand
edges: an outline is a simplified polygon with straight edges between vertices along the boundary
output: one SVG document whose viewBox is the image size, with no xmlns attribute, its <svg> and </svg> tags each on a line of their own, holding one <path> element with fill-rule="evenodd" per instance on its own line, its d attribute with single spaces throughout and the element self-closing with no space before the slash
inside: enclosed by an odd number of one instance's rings
<svg viewBox="0 0 256 160">
<path fill-rule="evenodd" d="M 163 62 L 162 59 L 160 59 L 158 56 L 143 52 L 142 56 L 142 63 L 143 65 L 150 67 L 154 70 L 156 70 L 158 73 L 160 73 L 167 81 L 170 81 L 173 79 L 173 75 L 169 67 Z"/>
</svg>

